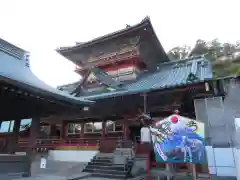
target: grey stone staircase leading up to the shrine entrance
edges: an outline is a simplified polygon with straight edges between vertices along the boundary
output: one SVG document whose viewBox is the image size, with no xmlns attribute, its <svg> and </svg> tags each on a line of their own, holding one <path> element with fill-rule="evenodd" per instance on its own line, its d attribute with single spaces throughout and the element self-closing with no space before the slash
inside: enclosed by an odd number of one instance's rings
<svg viewBox="0 0 240 180">
<path fill-rule="evenodd" d="M 83 172 L 98 178 L 130 178 L 134 157 L 129 152 L 130 149 L 117 148 L 114 153 L 99 153 L 87 164 Z"/>
</svg>

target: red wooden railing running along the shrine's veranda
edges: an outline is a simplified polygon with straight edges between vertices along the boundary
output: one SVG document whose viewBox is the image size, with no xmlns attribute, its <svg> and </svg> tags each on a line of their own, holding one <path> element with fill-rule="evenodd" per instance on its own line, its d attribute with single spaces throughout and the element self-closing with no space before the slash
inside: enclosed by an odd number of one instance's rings
<svg viewBox="0 0 240 180">
<path fill-rule="evenodd" d="M 18 140 L 18 151 L 25 151 L 31 144 L 29 143 L 29 138 L 19 138 Z M 4 147 L 6 144 L 6 139 L 0 138 L 0 145 Z M 1 148 L 0 146 L 0 148 Z M 31 145 L 32 146 L 32 145 Z M 149 153 L 151 149 L 149 144 L 141 144 L 140 139 L 136 139 L 134 142 L 130 140 L 123 140 L 123 137 L 92 137 L 92 138 L 66 138 L 60 139 L 59 137 L 48 137 L 48 138 L 38 138 L 35 141 L 34 148 L 40 151 L 47 151 L 52 149 L 59 149 L 61 147 L 81 147 L 86 149 L 92 147 L 93 149 L 99 149 L 100 152 L 111 153 L 116 147 L 129 147 L 134 148 L 136 154 L 146 154 Z M 84 148 L 83 148 L 84 149 Z M 0 149 L 0 151 L 2 151 Z"/>
</svg>

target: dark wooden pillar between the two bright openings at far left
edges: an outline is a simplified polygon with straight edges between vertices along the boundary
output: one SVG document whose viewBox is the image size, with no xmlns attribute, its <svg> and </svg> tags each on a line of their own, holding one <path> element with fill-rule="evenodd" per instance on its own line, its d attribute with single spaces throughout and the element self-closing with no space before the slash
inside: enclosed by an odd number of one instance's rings
<svg viewBox="0 0 240 180">
<path fill-rule="evenodd" d="M 21 119 L 14 121 L 13 132 L 11 133 L 11 138 L 8 144 L 8 151 L 10 154 L 14 154 L 17 150 L 20 124 Z"/>
</svg>

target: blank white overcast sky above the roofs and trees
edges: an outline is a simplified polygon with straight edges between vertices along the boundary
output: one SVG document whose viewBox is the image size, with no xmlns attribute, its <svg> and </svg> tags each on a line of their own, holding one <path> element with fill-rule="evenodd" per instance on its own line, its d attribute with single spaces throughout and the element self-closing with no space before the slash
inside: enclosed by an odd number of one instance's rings
<svg viewBox="0 0 240 180">
<path fill-rule="evenodd" d="M 55 52 L 150 16 L 165 50 L 196 39 L 240 39 L 239 0 L 0 0 L 0 37 L 31 53 L 31 68 L 51 86 L 79 79 Z"/>
</svg>

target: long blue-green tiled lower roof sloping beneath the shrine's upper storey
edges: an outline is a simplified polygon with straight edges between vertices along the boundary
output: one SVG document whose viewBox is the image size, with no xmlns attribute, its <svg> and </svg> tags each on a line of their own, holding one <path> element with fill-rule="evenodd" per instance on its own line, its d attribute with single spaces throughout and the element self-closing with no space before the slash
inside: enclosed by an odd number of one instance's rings
<svg viewBox="0 0 240 180">
<path fill-rule="evenodd" d="M 191 80 L 190 78 L 192 77 L 193 79 Z M 205 58 L 197 57 L 162 63 L 157 67 L 155 72 L 146 72 L 137 81 L 123 85 L 119 90 L 83 97 L 89 100 L 97 100 L 192 84 L 211 78 L 211 64 Z"/>
</svg>

